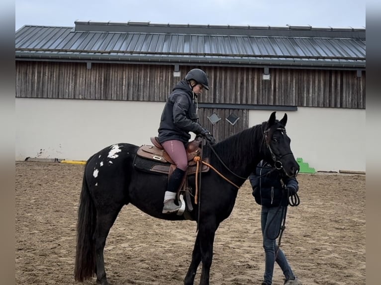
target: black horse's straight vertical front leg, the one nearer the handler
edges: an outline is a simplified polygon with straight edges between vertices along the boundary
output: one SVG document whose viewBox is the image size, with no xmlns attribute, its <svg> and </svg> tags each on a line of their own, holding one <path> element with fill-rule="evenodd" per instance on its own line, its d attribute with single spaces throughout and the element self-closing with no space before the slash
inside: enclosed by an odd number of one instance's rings
<svg viewBox="0 0 381 285">
<path fill-rule="evenodd" d="M 200 285 L 209 285 L 210 267 L 213 259 L 213 243 L 214 235 L 217 230 L 218 223 L 215 218 L 208 218 L 198 225 L 198 240 L 201 253 L 202 269 L 200 277 Z"/>
</svg>

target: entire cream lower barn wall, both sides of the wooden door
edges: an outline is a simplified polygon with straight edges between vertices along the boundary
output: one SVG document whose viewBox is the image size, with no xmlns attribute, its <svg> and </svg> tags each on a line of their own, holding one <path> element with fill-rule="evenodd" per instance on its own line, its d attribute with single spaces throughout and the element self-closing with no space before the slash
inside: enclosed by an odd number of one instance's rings
<svg viewBox="0 0 381 285">
<path fill-rule="evenodd" d="M 163 102 L 16 98 L 16 160 L 87 160 L 113 143 L 151 144 L 163 107 Z M 251 110 L 249 126 L 267 121 L 271 112 Z M 284 113 L 278 111 L 277 118 Z M 287 115 L 295 158 L 317 171 L 365 171 L 365 110 L 298 107 Z"/>
</svg>

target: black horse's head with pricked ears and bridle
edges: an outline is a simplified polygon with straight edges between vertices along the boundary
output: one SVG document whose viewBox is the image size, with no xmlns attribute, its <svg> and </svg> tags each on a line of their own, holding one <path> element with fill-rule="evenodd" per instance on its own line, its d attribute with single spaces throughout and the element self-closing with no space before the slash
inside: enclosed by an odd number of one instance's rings
<svg viewBox="0 0 381 285">
<path fill-rule="evenodd" d="M 270 115 L 269 121 L 264 123 L 264 142 L 266 151 L 265 160 L 274 165 L 278 170 L 285 172 L 286 176 L 294 177 L 299 172 L 299 164 L 296 162 L 290 147 L 290 138 L 286 134 L 287 114 L 282 120 L 275 118 L 275 113 Z"/>
</svg>

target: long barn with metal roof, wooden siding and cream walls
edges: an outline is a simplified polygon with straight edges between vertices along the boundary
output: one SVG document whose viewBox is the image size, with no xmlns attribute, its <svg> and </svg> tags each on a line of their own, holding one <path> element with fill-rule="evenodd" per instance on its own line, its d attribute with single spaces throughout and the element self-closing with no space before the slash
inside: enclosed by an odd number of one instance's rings
<svg viewBox="0 0 381 285">
<path fill-rule="evenodd" d="M 216 140 L 288 115 L 295 157 L 365 171 L 365 29 L 76 21 L 16 31 L 16 160 L 86 160 L 150 144 L 172 87 L 209 76 L 199 121 Z"/>
</svg>

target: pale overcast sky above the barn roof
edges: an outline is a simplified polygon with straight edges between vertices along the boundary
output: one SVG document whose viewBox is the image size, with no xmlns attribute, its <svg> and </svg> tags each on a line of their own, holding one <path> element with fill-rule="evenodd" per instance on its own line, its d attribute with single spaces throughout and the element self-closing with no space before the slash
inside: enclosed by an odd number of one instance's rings
<svg viewBox="0 0 381 285">
<path fill-rule="evenodd" d="M 74 21 L 365 27 L 362 0 L 16 0 L 15 29 Z"/>
</svg>

